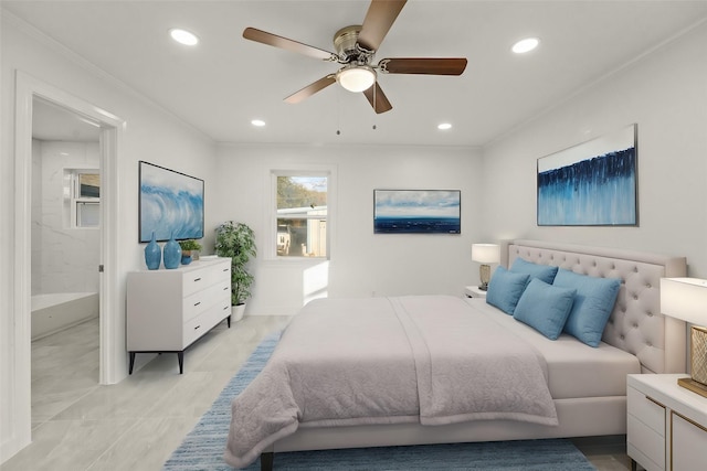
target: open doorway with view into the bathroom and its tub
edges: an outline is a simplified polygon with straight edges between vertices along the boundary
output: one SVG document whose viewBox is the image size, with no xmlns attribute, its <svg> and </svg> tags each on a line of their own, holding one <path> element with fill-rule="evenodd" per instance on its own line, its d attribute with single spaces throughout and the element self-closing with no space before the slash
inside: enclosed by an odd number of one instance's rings
<svg viewBox="0 0 707 471">
<path fill-rule="evenodd" d="M 99 381 L 101 125 L 32 99 L 32 428 Z"/>
</svg>

